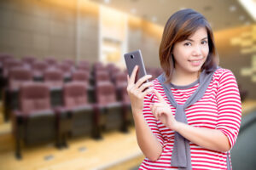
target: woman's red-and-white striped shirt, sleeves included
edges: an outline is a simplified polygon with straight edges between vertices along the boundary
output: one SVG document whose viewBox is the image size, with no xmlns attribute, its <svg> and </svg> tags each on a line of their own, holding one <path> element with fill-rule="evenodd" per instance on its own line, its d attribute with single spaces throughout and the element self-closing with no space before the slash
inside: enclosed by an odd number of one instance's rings
<svg viewBox="0 0 256 170">
<path fill-rule="evenodd" d="M 156 89 L 172 108 L 175 116 L 175 108 L 170 104 L 164 89 L 157 79 L 153 88 Z M 183 105 L 190 95 L 198 88 L 199 83 L 190 87 L 171 88 L 177 104 Z M 174 131 L 167 128 L 160 121 L 156 121 L 149 105 L 158 102 L 154 94 L 148 94 L 144 99 L 143 116 L 148 122 L 151 131 L 160 141 L 163 147 L 157 161 L 149 161 L 145 158 L 139 169 L 177 169 L 171 167 L 172 149 L 174 144 Z M 241 123 L 241 99 L 236 83 L 236 77 L 227 69 L 219 68 L 214 72 L 212 82 L 209 84 L 204 96 L 194 105 L 185 109 L 188 124 L 194 127 L 206 127 L 218 129 L 229 139 L 231 147 L 235 144 Z M 228 152 L 205 149 L 197 144 L 190 144 L 191 164 L 195 169 L 227 169 L 226 159 Z"/>
</svg>

